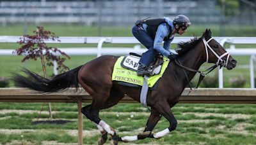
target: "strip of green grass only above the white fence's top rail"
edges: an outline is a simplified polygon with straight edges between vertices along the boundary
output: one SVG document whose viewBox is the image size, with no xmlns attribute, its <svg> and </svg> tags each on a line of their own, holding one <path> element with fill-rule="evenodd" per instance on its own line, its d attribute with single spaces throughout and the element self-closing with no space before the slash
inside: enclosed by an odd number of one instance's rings
<svg viewBox="0 0 256 145">
<path fill-rule="evenodd" d="M 81 24 L 40 24 L 45 30 L 54 32 L 57 36 L 98 36 L 98 27 L 88 27 Z M 36 25 L 28 25 L 28 34 L 33 34 Z M 124 27 L 103 26 L 101 36 L 132 36 L 132 25 Z M 211 29 L 212 36 L 220 36 L 220 27 L 218 25 L 191 25 L 182 36 L 201 36 L 205 29 Z M 243 32 L 242 32 L 243 31 Z M 225 36 L 252 37 L 256 36 L 253 25 L 232 25 L 226 27 Z M 15 24 L 0 27 L 1 36 L 22 36 L 24 34 L 24 25 Z"/>
</svg>

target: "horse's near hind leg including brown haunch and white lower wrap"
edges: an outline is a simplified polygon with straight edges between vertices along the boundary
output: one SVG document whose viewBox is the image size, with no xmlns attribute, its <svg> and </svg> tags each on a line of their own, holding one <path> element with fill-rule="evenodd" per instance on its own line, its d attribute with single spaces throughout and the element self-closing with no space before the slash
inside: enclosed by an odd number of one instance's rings
<svg viewBox="0 0 256 145">
<path fill-rule="evenodd" d="M 113 128 L 99 118 L 99 111 L 106 104 L 113 87 L 111 78 L 116 59 L 117 57 L 109 55 L 98 57 L 85 64 L 77 76 L 81 86 L 93 99 L 88 111 L 82 109 L 82 113 L 84 112 L 89 120 L 104 128 L 108 134 L 112 135 L 113 139 L 118 138 L 118 136 Z"/>
</svg>

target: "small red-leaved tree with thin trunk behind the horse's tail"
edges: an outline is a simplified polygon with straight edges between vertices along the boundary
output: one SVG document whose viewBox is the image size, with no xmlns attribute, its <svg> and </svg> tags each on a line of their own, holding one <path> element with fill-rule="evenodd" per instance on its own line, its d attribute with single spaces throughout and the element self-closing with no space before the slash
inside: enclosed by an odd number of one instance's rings
<svg viewBox="0 0 256 145">
<path fill-rule="evenodd" d="M 40 58 L 42 62 L 42 69 L 44 72 L 44 77 L 47 78 L 46 69 L 45 69 L 45 60 L 47 66 L 53 66 L 53 61 L 56 61 L 58 64 L 57 70 L 60 72 L 68 71 L 69 68 L 63 64 L 66 58 L 70 59 L 70 57 L 58 50 L 56 47 L 49 47 L 45 44 L 45 41 L 60 41 L 58 36 L 55 36 L 54 32 L 45 31 L 44 27 L 37 27 L 36 31 L 33 31 L 34 35 L 24 35 L 20 38 L 19 43 L 22 45 L 20 48 L 15 50 L 14 53 L 17 55 L 25 55 L 21 62 L 25 60 L 37 60 Z M 58 54 L 58 55 L 57 55 Z M 44 106 L 44 105 L 43 105 Z M 43 108 L 43 107 L 42 107 Z M 41 109 L 42 111 L 42 109 Z M 40 112 L 41 114 L 41 112 Z M 51 104 L 49 103 L 49 114 L 52 120 L 51 114 Z"/>
</svg>

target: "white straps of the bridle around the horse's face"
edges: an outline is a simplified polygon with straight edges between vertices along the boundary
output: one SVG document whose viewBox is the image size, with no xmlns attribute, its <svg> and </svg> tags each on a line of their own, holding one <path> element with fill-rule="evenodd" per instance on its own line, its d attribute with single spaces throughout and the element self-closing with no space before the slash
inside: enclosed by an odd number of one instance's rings
<svg viewBox="0 0 256 145">
<path fill-rule="evenodd" d="M 226 52 L 226 53 L 223 53 L 222 55 L 218 55 L 216 52 L 214 52 L 214 50 L 212 50 L 211 46 L 208 44 L 212 39 L 213 38 L 210 38 L 208 41 L 205 41 L 205 38 L 203 38 L 205 52 L 206 52 L 206 62 L 208 63 L 208 61 L 209 61 L 209 53 L 208 53 L 208 49 L 207 49 L 207 47 L 208 47 L 209 50 L 211 50 L 211 52 L 218 58 L 218 61 L 216 62 L 216 64 L 221 67 L 222 66 L 227 67 L 230 53 Z M 228 55 L 227 59 L 223 60 L 222 58 L 225 57 L 226 55 Z"/>
</svg>

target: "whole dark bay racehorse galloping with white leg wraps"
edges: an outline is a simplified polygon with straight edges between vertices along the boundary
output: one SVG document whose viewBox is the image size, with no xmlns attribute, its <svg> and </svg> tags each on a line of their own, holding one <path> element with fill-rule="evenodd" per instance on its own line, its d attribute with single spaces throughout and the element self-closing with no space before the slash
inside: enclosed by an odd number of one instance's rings
<svg viewBox="0 0 256 145">
<path fill-rule="evenodd" d="M 208 29 L 201 38 L 179 43 L 178 46 L 180 48 L 177 51 L 179 53 L 178 59 L 182 66 L 198 70 L 204 62 L 209 62 L 227 67 L 227 69 L 236 67 L 236 60 L 217 41 L 211 38 L 211 31 Z M 102 137 L 98 141 L 99 144 L 106 142 L 108 134 L 111 135 L 111 143 L 117 144 L 118 141 L 130 142 L 146 137 L 159 139 L 175 130 L 177 120 L 170 108 L 179 102 L 181 93 L 196 72 L 185 71 L 174 60 L 171 60 L 159 80 L 157 89 L 148 90 L 147 105 L 151 107 L 151 113 L 144 132 L 134 136 L 118 137 L 115 130 L 99 118 L 99 111 L 115 106 L 125 94 L 140 102 L 141 89 L 118 85 L 111 80 L 113 67 L 117 59 L 118 57 L 111 55 L 98 57 L 83 66 L 58 74 L 52 79 L 42 78 L 35 72 L 25 69 L 24 72 L 28 75 L 27 77 L 13 74 L 13 80 L 17 86 L 30 88 L 38 92 L 58 92 L 69 87 L 79 88 L 80 84 L 92 96 L 92 104 L 83 107 L 81 112 L 93 121 L 102 133 Z M 152 130 L 161 116 L 164 116 L 170 122 L 170 126 L 161 132 L 152 134 Z"/>
</svg>

